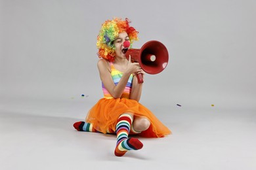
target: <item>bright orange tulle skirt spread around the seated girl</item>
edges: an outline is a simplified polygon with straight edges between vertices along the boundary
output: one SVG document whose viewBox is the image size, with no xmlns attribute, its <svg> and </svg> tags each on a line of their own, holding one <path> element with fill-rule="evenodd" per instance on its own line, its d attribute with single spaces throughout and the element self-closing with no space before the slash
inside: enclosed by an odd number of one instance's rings
<svg viewBox="0 0 256 170">
<path fill-rule="evenodd" d="M 142 137 L 164 137 L 171 134 L 171 131 L 163 125 L 154 114 L 139 102 L 126 99 L 100 99 L 91 110 L 89 110 L 86 122 L 93 124 L 93 127 L 107 133 L 109 129 L 116 131 L 117 119 L 124 112 L 133 113 L 134 116 L 146 116 L 150 121 L 150 127 L 139 133 Z"/>
</svg>

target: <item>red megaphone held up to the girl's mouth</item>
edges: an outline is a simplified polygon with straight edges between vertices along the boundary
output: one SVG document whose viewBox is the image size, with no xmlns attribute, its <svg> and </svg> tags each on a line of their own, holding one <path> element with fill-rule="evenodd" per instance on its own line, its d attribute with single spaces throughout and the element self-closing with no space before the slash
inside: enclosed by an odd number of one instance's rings
<svg viewBox="0 0 256 170">
<path fill-rule="evenodd" d="M 125 47 L 129 41 L 123 42 Z M 140 49 L 130 48 L 125 53 L 127 59 L 131 55 L 131 61 L 138 62 L 143 71 L 150 75 L 156 75 L 167 66 L 169 55 L 167 48 L 159 41 L 148 41 Z M 138 82 L 142 83 L 142 74 L 137 74 Z"/>
</svg>

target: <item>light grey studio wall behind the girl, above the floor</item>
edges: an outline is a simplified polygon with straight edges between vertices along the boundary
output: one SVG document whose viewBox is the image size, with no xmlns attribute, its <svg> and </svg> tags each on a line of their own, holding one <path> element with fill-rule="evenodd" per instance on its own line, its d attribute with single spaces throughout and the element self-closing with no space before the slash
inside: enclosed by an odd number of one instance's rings
<svg viewBox="0 0 256 170">
<path fill-rule="evenodd" d="M 96 35 L 127 17 L 134 48 L 158 40 L 170 54 L 142 103 L 255 109 L 255 13 L 255 1 L 1 1 L 1 100 L 96 101 Z"/>
</svg>

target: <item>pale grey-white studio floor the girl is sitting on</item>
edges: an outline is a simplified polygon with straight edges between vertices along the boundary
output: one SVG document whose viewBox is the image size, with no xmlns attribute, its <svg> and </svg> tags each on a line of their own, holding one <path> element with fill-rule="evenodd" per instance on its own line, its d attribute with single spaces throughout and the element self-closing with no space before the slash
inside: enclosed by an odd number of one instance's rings
<svg viewBox="0 0 256 170">
<path fill-rule="evenodd" d="M 8 104 L 9 103 L 9 104 Z M 114 156 L 115 135 L 75 131 L 81 103 L 6 102 L 0 110 L 0 169 L 256 169 L 253 110 L 176 105 L 152 111 L 172 135 L 144 139 Z"/>
</svg>

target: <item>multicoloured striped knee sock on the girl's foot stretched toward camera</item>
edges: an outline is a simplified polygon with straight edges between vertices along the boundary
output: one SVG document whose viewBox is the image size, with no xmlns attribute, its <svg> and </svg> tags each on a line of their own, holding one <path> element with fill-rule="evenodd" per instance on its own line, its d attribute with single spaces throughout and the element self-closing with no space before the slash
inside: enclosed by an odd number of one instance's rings
<svg viewBox="0 0 256 170">
<path fill-rule="evenodd" d="M 116 156 L 123 156 L 128 150 L 139 150 L 143 144 L 136 138 L 128 138 L 133 115 L 124 113 L 119 116 L 116 124 L 117 143 L 115 149 Z"/>
</svg>

